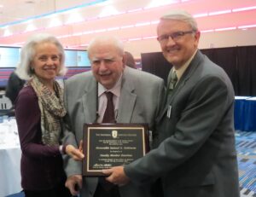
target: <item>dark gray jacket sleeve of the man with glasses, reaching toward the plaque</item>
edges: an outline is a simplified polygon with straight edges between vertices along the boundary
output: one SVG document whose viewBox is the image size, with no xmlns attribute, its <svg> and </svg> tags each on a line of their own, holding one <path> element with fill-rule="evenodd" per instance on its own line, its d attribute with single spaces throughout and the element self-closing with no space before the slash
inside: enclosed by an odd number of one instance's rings
<svg viewBox="0 0 256 197">
<path fill-rule="evenodd" d="M 125 165 L 125 174 L 133 183 L 143 184 L 173 171 L 201 148 L 232 105 L 229 88 L 223 80 L 214 76 L 201 78 L 190 90 L 182 113 L 177 114 L 173 134 L 143 158 Z M 162 119 L 170 121 L 166 116 Z M 158 126 L 161 124 L 163 121 Z M 168 133 L 169 129 L 163 127 L 160 132 Z"/>
</svg>

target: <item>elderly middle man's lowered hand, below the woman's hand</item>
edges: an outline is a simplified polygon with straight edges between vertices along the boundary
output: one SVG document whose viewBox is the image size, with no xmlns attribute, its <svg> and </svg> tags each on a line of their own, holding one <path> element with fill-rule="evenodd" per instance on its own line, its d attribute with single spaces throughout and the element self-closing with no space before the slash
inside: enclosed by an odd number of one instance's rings
<svg viewBox="0 0 256 197">
<path fill-rule="evenodd" d="M 82 175 L 73 175 L 67 177 L 65 186 L 66 188 L 69 188 L 71 194 L 78 195 L 79 189 L 82 188 Z"/>
</svg>

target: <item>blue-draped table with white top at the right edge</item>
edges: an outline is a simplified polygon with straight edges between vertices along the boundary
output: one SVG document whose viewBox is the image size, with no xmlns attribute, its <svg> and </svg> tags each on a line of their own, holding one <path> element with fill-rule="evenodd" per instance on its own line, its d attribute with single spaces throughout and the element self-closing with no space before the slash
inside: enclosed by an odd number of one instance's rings
<svg viewBox="0 0 256 197">
<path fill-rule="evenodd" d="M 256 131 L 256 97 L 235 97 L 235 129 Z"/>
</svg>

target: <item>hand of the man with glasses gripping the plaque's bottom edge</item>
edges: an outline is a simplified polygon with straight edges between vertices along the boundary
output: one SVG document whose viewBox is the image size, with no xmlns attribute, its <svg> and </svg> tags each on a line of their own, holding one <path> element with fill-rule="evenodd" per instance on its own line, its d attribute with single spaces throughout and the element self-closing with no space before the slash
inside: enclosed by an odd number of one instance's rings
<svg viewBox="0 0 256 197">
<path fill-rule="evenodd" d="M 111 169 L 102 170 L 103 174 L 107 175 L 106 180 L 110 183 L 123 186 L 130 182 L 130 178 L 125 175 L 124 167 L 117 166 Z"/>
</svg>

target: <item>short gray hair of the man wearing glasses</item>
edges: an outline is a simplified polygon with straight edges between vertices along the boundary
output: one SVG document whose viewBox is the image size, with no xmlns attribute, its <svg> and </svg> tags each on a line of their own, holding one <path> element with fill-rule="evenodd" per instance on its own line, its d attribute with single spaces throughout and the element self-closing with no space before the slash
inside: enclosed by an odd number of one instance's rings
<svg viewBox="0 0 256 197">
<path fill-rule="evenodd" d="M 160 17 L 160 20 L 181 20 L 191 26 L 194 32 L 198 31 L 197 22 L 195 18 L 184 10 L 172 10 Z"/>
</svg>

